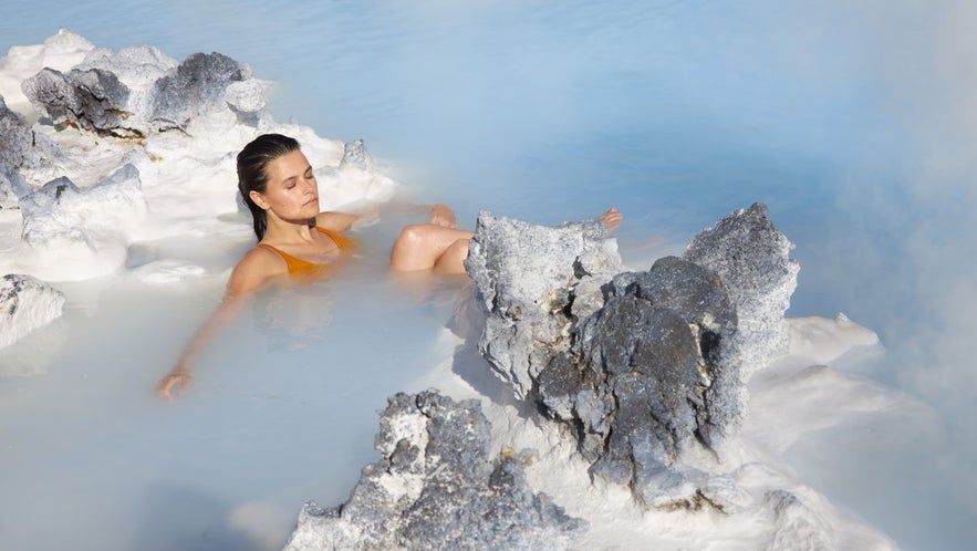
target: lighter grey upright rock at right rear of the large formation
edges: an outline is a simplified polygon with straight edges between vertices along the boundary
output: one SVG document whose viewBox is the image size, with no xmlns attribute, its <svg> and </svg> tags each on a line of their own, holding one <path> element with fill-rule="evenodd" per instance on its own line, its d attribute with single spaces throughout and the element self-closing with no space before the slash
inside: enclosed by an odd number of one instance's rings
<svg viewBox="0 0 977 551">
<path fill-rule="evenodd" d="M 800 269 L 789 258 L 791 249 L 793 243 L 777 230 L 766 205 L 759 202 L 703 230 L 686 248 L 684 258 L 718 273 L 736 304 L 744 377 L 790 346 L 783 313 L 790 308 Z"/>
</svg>

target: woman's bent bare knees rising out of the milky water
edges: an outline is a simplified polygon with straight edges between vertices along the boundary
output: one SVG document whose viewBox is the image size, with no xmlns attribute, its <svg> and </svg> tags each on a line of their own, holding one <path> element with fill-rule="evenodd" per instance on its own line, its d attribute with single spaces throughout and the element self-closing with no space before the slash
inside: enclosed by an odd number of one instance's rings
<svg viewBox="0 0 977 551">
<path fill-rule="evenodd" d="M 435 270 L 444 273 L 464 273 L 468 256 L 468 240 L 474 233 L 438 226 L 417 223 L 401 230 L 391 250 L 391 270 Z"/>
</svg>

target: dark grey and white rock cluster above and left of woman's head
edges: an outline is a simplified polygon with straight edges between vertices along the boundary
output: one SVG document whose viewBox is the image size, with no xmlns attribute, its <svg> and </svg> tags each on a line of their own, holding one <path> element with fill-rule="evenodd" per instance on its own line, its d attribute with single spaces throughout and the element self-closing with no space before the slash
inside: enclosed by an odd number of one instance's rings
<svg viewBox="0 0 977 551">
<path fill-rule="evenodd" d="M 177 64 L 147 45 L 93 50 L 67 73 L 43 69 L 22 90 L 52 124 L 116 137 L 188 132 L 191 119 L 205 115 L 253 118 L 266 104 L 264 86 L 246 64 L 220 53 L 195 53 Z"/>
</svg>

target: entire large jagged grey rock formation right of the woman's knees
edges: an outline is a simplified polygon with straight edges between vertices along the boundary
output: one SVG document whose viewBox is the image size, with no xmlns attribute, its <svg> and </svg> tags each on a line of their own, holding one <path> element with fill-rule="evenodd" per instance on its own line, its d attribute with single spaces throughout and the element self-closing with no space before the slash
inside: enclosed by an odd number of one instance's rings
<svg viewBox="0 0 977 551">
<path fill-rule="evenodd" d="M 782 323 L 796 284 L 796 268 L 772 269 L 796 264 L 766 214 L 761 205 L 734 212 L 698 236 L 687 259 L 620 274 L 599 225 L 544 228 L 482 214 L 466 261 L 485 309 L 479 350 L 518 398 L 570 427 L 594 476 L 647 507 L 735 508 L 728 479 L 686 459 L 721 454 L 738 432 L 741 351 L 775 352 L 757 324 L 739 329 L 739 309 Z"/>
</svg>

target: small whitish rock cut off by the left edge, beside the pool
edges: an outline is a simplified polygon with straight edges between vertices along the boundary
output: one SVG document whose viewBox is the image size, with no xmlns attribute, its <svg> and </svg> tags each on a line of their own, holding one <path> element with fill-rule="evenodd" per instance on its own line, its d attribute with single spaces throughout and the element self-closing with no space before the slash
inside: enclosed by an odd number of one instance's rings
<svg viewBox="0 0 977 551">
<path fill-rule="evenodd" d="M 61 316 L 64 294 L 30 276 L 0 278 L 0 349 Z"/>
</svg>

